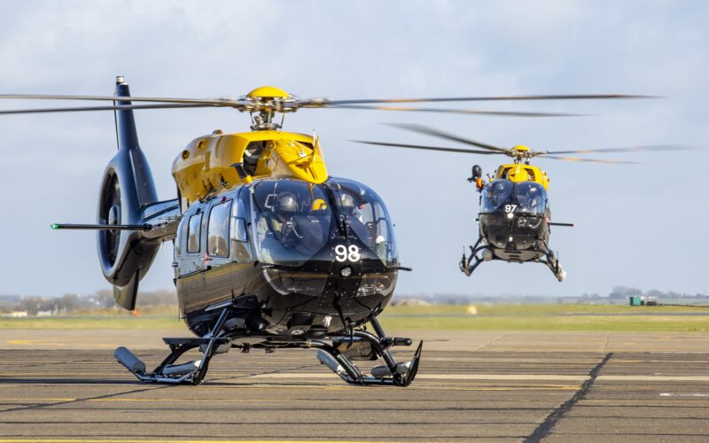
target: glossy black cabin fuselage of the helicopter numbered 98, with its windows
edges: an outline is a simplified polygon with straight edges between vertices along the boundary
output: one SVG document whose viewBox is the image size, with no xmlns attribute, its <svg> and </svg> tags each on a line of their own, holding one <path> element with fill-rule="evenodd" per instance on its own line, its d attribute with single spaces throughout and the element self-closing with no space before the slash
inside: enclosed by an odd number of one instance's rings
<svg viewBox="0 0 709 443">
<path fill-rule="evenodd" d="M 284 217 L 286 194 L 298 207 Z M 396 284 L 391 229 L 378 196 L 347 180 L 264 180 L 214 194 L 185 211 L 175 236 L 183 318 L 204 336 L 234 300 L 226 329 L 235 337 L 319 338 L 366 323 Z"/>
</svg>

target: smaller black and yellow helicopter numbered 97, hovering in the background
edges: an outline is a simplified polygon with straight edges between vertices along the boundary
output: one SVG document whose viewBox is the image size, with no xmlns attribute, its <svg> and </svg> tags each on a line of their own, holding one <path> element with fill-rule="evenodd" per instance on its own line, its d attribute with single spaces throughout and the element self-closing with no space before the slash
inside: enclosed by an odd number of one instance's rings
<svg viewBox="0 0 709 443">
<path fill-rule="evenodd" d="M 436 152 L 459 152 L 478 155 L 505 155 L 513 162 L 497 167 L 495 175 L 487 175 L 485 183 L 482 168 L 474 165 L 468 182 L 474 183 L 479 192 L 479 237 L 474 245 L 469 246 L 470 254 L 463 252 L 459 262 L 465 276 L 471 276 L 483 261 L 503 260 L 511 263 L 539 262 L 545 264 L 559 282 L 566 278 L 566 271 L 559 263 L 557 253 L 549 248 L 549 235 L 552 226 L 573 227 L 574 223 L 551 221 L 549 207 L 549 176 L 541 168 L 530 164 L 536 157 L 565 161 L 584 161 L 606 164 L 633 164 L 633 161 L 609 159 L 585 159 L 568 157 L 568 154 L 588 154 L 596 152 L 639 152 L 639 151 L 676 151 L 692 149 L 689 146 L 650 145 L 626 148 L 608 148 L 573 151 L 533 151 L 528 146 L 516 145 L 503 148 L 456 136 L 437 128 L 417 124 L 392 124 L 406 129 L 438 137 L 459 144 L 467 144 L 479 150 L 447 148 L 420 144 L 396 144 L 354 140 L 356 143 L 378 146 L 421 149 Z M 481 151 L 481 150 L 482 151 Z"/>
</svg>

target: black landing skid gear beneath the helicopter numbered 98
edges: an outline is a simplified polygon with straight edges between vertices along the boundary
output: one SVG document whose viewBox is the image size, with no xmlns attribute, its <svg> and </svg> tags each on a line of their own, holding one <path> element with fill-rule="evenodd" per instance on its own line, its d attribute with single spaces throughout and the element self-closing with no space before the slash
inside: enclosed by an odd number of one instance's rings
<svg viewBox="0 0 709 443">
<path fill-rule="evenodd" d="M 225 307 L 212 332 L 204 338 L 163 338 L 170 346 L 171 353 L 155 370 L 147 372 L 145 363 L 125 347 L 119 347 L 113 356 L 140 381 L 145 383 L 164 383 L 169 385 L 199 385 L 206 376 L 209 361 L 214 354 L 226 352 L 231 347 L 231 341 L 238 337 L 220 337 L 224 322 L 227 320 L 230 307 Z M 418 344 L 417 351 L 411 361 L 397 363 L 389 352 L 391 346 L 411 346 L 410 338 L 386 337 L 384 330 L 376 318 L 370 321 L 375 334 L 366 330 L 354 330 L 351 335 L 337 336 L 326 339 L 291 340 L 274 342 L 273 345 L 253 345 L 242 347 L 247 352 L 250 347 L 263 347 L 273 351 L 277 347 L 299 347 L 317 349 L 317 358 L 330 368 L 340 378 L 353 385 L 393 385 L 408 386 L 417 375 L 418 363 L 421 361 L 421 350 L 424 342 Z M 254 337 L 253 335 L 251 337 Z M 202 358 L 175 364 L 185 352 L 199 347 Z M 370 375 L 362 371 L 352 360 L 382 360 L 384 365 L 371 369 Z"/>
</svg>

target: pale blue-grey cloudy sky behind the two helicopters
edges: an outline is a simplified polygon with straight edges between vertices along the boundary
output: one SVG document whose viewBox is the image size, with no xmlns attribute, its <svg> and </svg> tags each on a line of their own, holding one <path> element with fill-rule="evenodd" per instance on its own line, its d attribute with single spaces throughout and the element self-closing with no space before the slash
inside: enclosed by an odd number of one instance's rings
<svg viewBox="0 0 709 443">
<path fill-rule="evenodd" d="M 697 1 L 0 1 L 0 93 L 239 97 L 273 85 L 299 97 L 389 98 L 627 93 L 625 101 L 492 103 L 463 107 L 588 114 L 521 119 L 338 109 L 301 110 L 284 128 L 321 137 L 330 175 L 366 183 L 396 225 L 398 293 L 605 295 L 709 293 L 705 251 L 709 161 L 709 4 Z M 60 103 L 65 105 L 64 102 Z M 55 103 L 8 101 L 2 109 Z M 230 109 L 136 111 L 160 198 L 175 198 L 172 161 L 216 128 L 248 130 Z M 501 146 L 536 150 L 684 144 L 696 151 L 606 154 L 641 165 L 539 159 L 551 177 L 550 246 L 564 283 L 541 264 L 458 270 L 477 239 L 478 196 L 466 178 L 504 158 L 409 152 L 365 139 L 456 147 L 383 123 L 420 123 Z M 92 232 L 113 157 L 110 112 L 0 116 L 0 294 L 61 295 L 109 288 Z M 459 147 L 459 146 L 458 146 Z M 589 156 L 593 157 L 593 156 Z M 141 284 L 172 286 L 166 244 Z"/>
</svg>

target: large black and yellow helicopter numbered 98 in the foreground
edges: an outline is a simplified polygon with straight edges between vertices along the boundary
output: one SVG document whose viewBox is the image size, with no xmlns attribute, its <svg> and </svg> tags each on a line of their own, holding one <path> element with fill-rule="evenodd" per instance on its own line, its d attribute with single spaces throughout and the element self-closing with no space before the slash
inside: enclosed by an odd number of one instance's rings
<svg viewBox="0 0 709 443">
<path fill-rule="evenodd" d="M 174 243 L 180 314 L 196 337 L 164 338 L 171 352 L 152 371 L 128 349 L 116 349 L 115 358 L 138 379 L 198 385 L 214 354 L 231 348 L 310 348 L 347 383 L 407 386 L 416 377 L 423 342 L 411 361 L 397 362 L 390 349 L 412 341 L 388 337 L 377 319 L 392 298 L 398 272 L 410 270 L 399 261 L 386 206 L 368 186 L 328 175 L 318 138 L 281 131 L 283 120 L 277 123 L 274 117 L 300 108 L 540 117 L 562 114 L 387 104 L 626 97 L 636 96 L 304 100 L 262 87 L 239 98 L 131 97 L 129 85 L 118 77 L 114 96 L 0 96 L 113 102 L 110 105 L 0 114 L 114 111 L 118 152 L 105 168 L 97 222 L 52 228 L 97 230 L 104 276 L 113 285 L 117 303 L 129 310 L 136 306 L 138 284 L 160 244 Z M 248 112 L 252 131 L 215 130 L 191 141 L 173 163 L 177 198 L 160 200 L 138 144 L 133 110 L 195 107 Z M 542 180 L 541 172 L 537 174 Z M 199 360 L 177 363 L 194 349 L 201 352 Z M 353 363 L 357 360 L 382 364 L 365 374 Z"/>
</svg>

